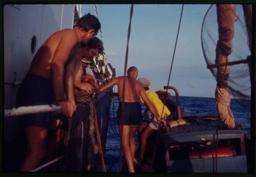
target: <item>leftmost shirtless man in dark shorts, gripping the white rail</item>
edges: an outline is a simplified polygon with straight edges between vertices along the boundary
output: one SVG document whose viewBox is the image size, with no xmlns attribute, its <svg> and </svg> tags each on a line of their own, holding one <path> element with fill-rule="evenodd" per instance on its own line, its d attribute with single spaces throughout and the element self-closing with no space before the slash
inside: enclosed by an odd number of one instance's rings
<svg viewBox="0 0 256 177">
<path fill-rule="evenodd" d="M 87 14 L 78 20 L 74 29 L 52 34 L 35 54 L 27 76 L 19 86 L 16 106 L 52 104 L 54 100 L 61 106 L 65 116 L 72 117 L 75 104 L 65 98 L 65 65 L 73 58 L 78 44 L 95 37 L 100 27 L 99 20 Z M 28 147 L 20 171 L 34 169 L 45 157 L 49 115 L 39 113 L 20 117 L 20 123 L 25 127 Z"/>
</svg>

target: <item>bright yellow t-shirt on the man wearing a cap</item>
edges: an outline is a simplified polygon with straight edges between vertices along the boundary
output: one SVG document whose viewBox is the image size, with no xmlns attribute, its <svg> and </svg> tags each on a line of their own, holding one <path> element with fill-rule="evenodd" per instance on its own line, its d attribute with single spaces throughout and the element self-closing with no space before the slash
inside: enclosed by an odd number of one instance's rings
<svg viewBox="0 0 256 177">
<path fill-rule="evenodd" d="M 147 90 L 146 95 L 147 95 L 147 98 L 152 102 L 154 107 L 157 109 L 157 113 L 159 114 L 160 117 L 162 115 L 162 110 L 163 110 L 162 117 L 170 115 L 169 109 L 166 106 L 164 106 L 163 102 L 159 99 L 158 95 L 154 91 Z M 140 97 L 140 100 L 143 104 L 145 104 L 141 97 Z M 164 109 L 163 109 L 163 106 L 164 106 Z"/>
</svg>

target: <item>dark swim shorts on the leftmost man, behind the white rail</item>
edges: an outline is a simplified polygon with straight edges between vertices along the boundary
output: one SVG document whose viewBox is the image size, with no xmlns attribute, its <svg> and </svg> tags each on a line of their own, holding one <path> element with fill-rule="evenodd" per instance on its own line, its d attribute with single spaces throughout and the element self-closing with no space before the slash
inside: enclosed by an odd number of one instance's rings
<svg viewBox="0 0 256 177">
<path fill-rule="evenodd" d="M 51 82 L 43 77 L 27 74 L 20 84 L 16 106 L 32 106 L 53 104 L 53 89 Z M 19 116 L 21 126 L 36 126 L 49 128 L 51 113 L 37 113 Z"/>
</svg>

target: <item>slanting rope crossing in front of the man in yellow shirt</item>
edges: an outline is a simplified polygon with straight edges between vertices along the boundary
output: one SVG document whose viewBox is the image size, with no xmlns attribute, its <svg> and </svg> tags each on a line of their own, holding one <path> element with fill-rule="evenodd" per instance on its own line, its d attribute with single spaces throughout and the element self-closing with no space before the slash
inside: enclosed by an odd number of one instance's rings
<svg viewBox="0 0 256 177">
<path fill-rule="evenodd" d="M 179 27 L 178 27 L 178 32 L 177 32 L 176 41 L 175 41 L 175 47 L 174 47 L 174 53 L 173 53 L 172 64 L 170 65 L 170 71 L 169 71 L 169 77 L 168 77 L 168 82 L 167 82 L 166 93 L 168 92 L 168 86 L 169 86 L 169 81 L 170 81 L 170 74 L 172 74 L 172 68 L 173 68 L 174 56 L 175 56 L 175 51 L 176 51 L 176 46 L 177 46 L 177 41 L 178 41 L 178 36 L 179 36 L 179 31 L 180 31 L 180 24 L 181 24 L 181 18 L 182 18 L 183 8 L 184 8 L 184 4 L 182 5 L 182 9 L 181 9 L 181 13 L 180 13 Z M 164 99 L 164 104 L 163 104 L 163 109 L 162 109 L 161 117 L 162 117 L 162 115 L 163 115 L 163 110 L 164 110 L 164 105 L 165 105 L 165 104 L 166 104 L 166 99 Z M 161 118 L 161 117 L 160 117 L 160 118 Z M 157 138 L 156 138 L 155 148 L 154 148 L 154 152 L 153 152 L 153 158 L 152 158 L 151 168 L 152 168 L 153 163 L 154 163 L 155 154 L 156 154 L 156 148 L 157 148 L 157 143 L 158 143 L 159 134 L 160 134 L 160 125 L 159 125 L 158 127 L 159 127 L 159 128 L 158 128 L 158 130 L 157 130 Z"/>
</svg>

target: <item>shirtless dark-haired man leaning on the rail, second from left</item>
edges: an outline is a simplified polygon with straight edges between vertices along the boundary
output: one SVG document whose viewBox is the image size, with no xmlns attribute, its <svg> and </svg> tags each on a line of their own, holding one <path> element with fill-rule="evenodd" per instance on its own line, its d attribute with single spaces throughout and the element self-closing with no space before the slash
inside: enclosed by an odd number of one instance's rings
<svg viewBox="0 0 256 177">
<path fill-rule="evenodd" d="M 68 99 L 75 104 L 74 87 L 83 91 L 92 93 L 93 85 L 90 83 L 82 83 L 82 59 L 92 60 L 99 53 L 103 52 L 103 44 L 99 38 L 94 37 L 86 43 L 86 46 L 80 45 L 74 59 L 67 65 L 66 80 L 68 81 Z"/>
</svg>

